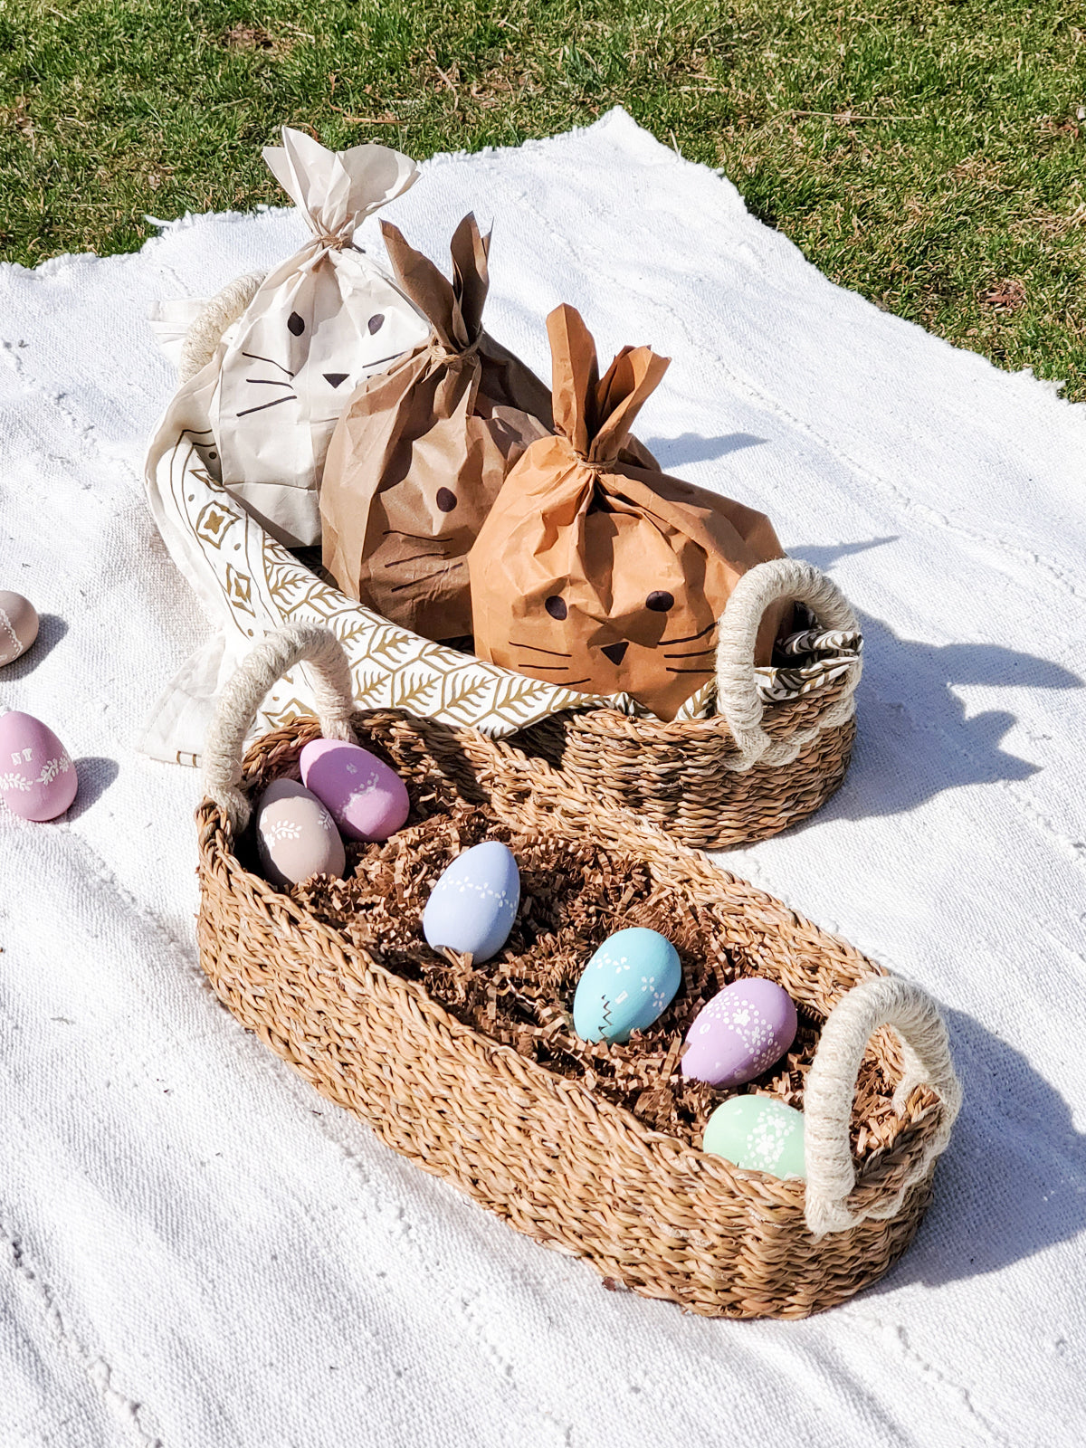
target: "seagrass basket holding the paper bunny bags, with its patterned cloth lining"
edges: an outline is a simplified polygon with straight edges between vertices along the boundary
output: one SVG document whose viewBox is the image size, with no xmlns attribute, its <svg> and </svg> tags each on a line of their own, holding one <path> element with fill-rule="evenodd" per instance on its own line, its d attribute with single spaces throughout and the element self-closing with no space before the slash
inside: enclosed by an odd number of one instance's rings
<svg viewBox="0 0 1086 1448">
<path fill-rule="evenodd" d="M 195 319 L 182 346 L 182 382 L 214 356 L 223 332 L 245 311 L 261 279 L 259 274 L 237 278 Z M 217 534 L 201 542 L 201 518 L 216 505 L 229 514 L 229 498 L 222 489 L 209 491 L 207 478 L 198 473 L 188 481 L 191 487 L 180 489 L 181 501 L 172 504 L 184 507 L 185 494 L 195 497 L 184 537 L 204 547 L 213 572 L 222 571 L 226 550 Z M 859 626 L 837 585 L 799 559 L 760 563 L 738 581 L 717 630 L 714 712 L 663 723 L 569 691 L 559 696 L 540 681 L 423 640 L 359 608 L 264 534 L 253 518 L 237 521 L 246 530 L 243 552 L 264 557 L 265 569 L 271 559 L 279 578 L 275 588 L 265 588 L 259 578 L 246 579 L 240 602 L 237 581 L 229 572 L 217 578 L 217 588 L 233 599 L 227 607 L 245 610 L 243 618 L 236 613 L 235 618 L 251 634 L 253 610 L 272 627 L 316 615 L 345 640 L 356 694 L 366 704 L 401 707 L 398 670 L 410 679 L 411 702 L 403 707 L 450 725 L 471 724 L 504 736 L 546 759 L 571 783 L 585 785 L 597 799 L 633 809 L 683 844 L 720 850 L 778 834 L 821 808 L 844 779 L 856 733 Z M 288 575 L 297 578 L 297 586 L 282 586 L 281 578 Z M 769 670 L 754 666 L 759 623 L 779 598 L 805 605 L 812 631 L 828 633 L 831 640 L 814 678 L 804 681 L 804 692 L 783 691 L 783 698 L 767 691 Z M 390 668 L 390 657 L 395 668 Z M 526 692 L 533 695 L 530 705 L 502 712 L 495 702 L 501 695 Z M 527 727 L 520 725 L 524 712 Z"/>
</svg>

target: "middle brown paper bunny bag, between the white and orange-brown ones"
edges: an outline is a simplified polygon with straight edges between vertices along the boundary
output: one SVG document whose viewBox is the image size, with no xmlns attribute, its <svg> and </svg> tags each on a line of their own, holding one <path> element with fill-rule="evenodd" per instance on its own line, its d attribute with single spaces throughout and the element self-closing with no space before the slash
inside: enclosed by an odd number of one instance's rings
<svg viewBox="0 0 1086 1448">
<path fill-rule="evenodd" d="M 466 216 L 453 278 L 382 226 L 429 342 L 366 378 L 339 420 L 320 498 L 324 566 L 369 608 L 427 639 L 472 631 L 466 555 L 510 465 L 550 432 L 550 392 L 482 330 L 489 237 Z"/>
</svg>

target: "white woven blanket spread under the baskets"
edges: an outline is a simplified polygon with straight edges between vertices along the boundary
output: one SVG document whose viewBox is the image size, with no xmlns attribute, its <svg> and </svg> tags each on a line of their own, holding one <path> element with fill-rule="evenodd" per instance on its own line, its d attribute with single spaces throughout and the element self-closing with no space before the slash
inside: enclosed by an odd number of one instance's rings
<svg viewBox="0 0 1086 1448">
<path fill-rule="evenodd" d="M 436 158 L 390 214 L 495 220 L 489 324 L 578 306 L 675 358 L 640 433 L 862 613 L 846 788 L 730 864 L 946 1006 L 966 1105 L 902 1264 L 804 1323 L 605 1292 L 327 1106 L 204 988 L 191 770 L 135 740 L 204 624 L 140 484 L 148 304 L 298 242 L 197 217 L 0 271 L 0 673 L 78 759 L 0 817 L 0 1444 L 659 1448 L 1086 1441 L 1086 414 L 830 285 L 620 111 Z"/>
</svg>

